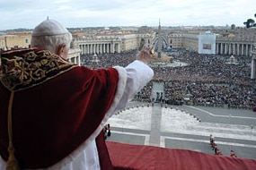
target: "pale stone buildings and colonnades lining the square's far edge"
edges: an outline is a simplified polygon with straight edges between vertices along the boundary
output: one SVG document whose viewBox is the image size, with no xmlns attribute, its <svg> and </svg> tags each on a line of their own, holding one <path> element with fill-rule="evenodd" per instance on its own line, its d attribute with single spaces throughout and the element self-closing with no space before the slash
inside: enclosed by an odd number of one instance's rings
<svg viewBox="0 0 256 170">
<path fill-rule="evenodd" d="M 160 27 L 160 25 L 159 25 Z M 158 28 L 146 26 L 140 28 L 92 28 L 72 30 L 73 48 L 69 61 L 80 64 L 80 55 L 120 53 L 138 49 L 143 44 L 159 47 L 158 36 L 162 39 L 162 48 L 184 49 L 211 55 L 252 56 L 253 44 L 256 42 L 255 28 L 232 27 L 169 27 Z M 29 47 L 31 32 L 12 32 L 0 34 L 0 49 Z M 80 50 L 79 50 L 80 49 Z M 164 51 L 164 49 L 163 49 Z"/>
</svg>

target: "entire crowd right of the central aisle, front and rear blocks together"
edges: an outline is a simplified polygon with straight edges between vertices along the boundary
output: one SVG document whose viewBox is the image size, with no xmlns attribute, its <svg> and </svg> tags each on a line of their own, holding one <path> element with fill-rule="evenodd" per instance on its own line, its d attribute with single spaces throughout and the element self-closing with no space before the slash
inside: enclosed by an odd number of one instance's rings
<svg viewBox="0 0 256 170">
<path fill-rule="evenodd" d="M 185 51 L 176 58 L 189 65 L 158 68 L 164 72 L 158 77 L 165 80 L 166 98 L 181 100 L 185 94 L 190 96 L 193 105 L 250 109 L 255 105 L 256 86 L 250 78 L 251 57 L 240 56 L 237 63 L 230 64 L 229 56 Z"/>
</svg>

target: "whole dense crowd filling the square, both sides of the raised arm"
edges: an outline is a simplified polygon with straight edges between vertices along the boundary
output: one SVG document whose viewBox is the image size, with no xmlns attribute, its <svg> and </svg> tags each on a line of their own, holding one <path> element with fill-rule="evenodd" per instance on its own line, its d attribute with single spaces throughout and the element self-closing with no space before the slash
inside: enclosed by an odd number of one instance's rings
<svg viewBox="0 0 256 170">
<path fill-rule="evenodd" d="M 126 66 L 135 60 L 137 50 L 119 54 L 82 56 L 82 64 L 98 69 L 113 65 Z M 251 79 L 252 57 L 236 57 L 230 64 L 229 56 L 199 55 L 196 52 L 173 53 L 174 61 L 187 63 L 185 66 L 156 66 L 154 80 L 164 84 L 163 101 L 173 105 L 183 103 L 203 106 L 228 106 L 252 108 L 256 105 L 256 81 Z M 142 89 L 136 99 L 150 101 L 153 83 Z"/>
</svg>

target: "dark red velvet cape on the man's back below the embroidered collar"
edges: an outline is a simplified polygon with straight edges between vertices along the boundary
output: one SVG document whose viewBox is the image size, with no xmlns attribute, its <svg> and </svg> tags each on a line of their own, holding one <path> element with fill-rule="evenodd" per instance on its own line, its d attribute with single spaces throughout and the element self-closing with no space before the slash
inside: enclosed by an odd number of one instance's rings
<svg viewBox="0 0 256 170">
<path fill-rule="evenodd" d="M 16 54 L 2 54 L 9 62 L 3 62 L 2 58 L 2 64 L 7 65 L 4 73 L 13 69 L 12 59 Z M 36 54 L 39 55 L 37 51 Z M 102 119 L 115 98 L 119 82 L 117 70 L 93 71 L 57 62 L 61 72 L 47 72 L 49 79 L 32 80 L 32 86 L 19 85 L 14 92 L 13 146 L 21 168 L 52 166 L 75 149 L 86 147 L 101 131 Z M 6 161 L 11 92 L 3 80 L 0 83 L 0 155 Z"/>
</svg>

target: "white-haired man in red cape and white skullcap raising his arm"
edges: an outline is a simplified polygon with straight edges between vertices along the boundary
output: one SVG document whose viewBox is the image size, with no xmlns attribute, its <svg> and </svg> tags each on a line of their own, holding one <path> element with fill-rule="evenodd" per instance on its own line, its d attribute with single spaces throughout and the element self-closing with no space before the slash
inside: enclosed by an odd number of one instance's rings
<svg viewBox="0 0 256 170">
<path fill-rule="evenodd" d="M 71 40 L 47 20 L 31 48 L 1 54 L 0 170 L 112 169 L 103 126 L 152 80 L 153 47 L 126 67 L 92 70 L 66 60 Z"/>
</svg>

